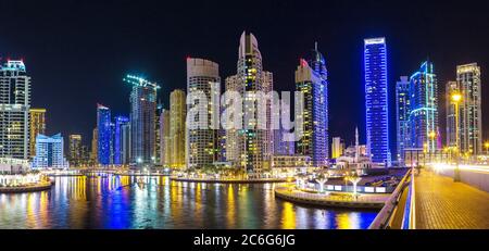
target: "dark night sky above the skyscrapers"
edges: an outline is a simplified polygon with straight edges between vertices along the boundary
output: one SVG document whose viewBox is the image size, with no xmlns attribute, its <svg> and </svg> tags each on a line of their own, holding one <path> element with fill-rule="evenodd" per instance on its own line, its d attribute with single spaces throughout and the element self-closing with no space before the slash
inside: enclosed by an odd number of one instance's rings
<svg viewBox="0 0 489 251">
<path fill-rule="evenodd" d="M 330 137 L 349 143 L 355 125 L 364 131 L 363 39 L 375 36 L 387 39 L 391 122 L 400 75 L 411 75 L 429 58 L 442 98 L 455 66 L 477 62 L 489 136 L 489 8 L 484 1 L 164 2 L 0 1 L 0 57 L 24 59 L 33 77 L 33 105 L 48 109 L 49 134 L 82 133 L 88 143 L 97 102 L 114 115 L 127 114 L 126 73 L 158 81 L 165 106 L 170 91 L 186 86 L 188 55 L 217 62 L 224 80 L 235 74 L 239 36 L 249 30 L 279 90 L 293 90 L 299 59 L 318 41 L 329 72 Z M 441 128 L 443 114 L 441 109 Z M 390 130 L 394 139 L 393 123 Z"/>
</svg>

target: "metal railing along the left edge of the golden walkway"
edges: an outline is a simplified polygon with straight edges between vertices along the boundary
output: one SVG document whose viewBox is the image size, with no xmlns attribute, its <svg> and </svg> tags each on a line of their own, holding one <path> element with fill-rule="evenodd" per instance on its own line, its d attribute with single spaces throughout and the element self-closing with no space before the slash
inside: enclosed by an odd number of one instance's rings
<svg viewBox="0 0 489 251">
<path fill-rule="evenodd" d="M 409 170 L 368 229 L 414 229 L 414 172 Z"/>
</svg>

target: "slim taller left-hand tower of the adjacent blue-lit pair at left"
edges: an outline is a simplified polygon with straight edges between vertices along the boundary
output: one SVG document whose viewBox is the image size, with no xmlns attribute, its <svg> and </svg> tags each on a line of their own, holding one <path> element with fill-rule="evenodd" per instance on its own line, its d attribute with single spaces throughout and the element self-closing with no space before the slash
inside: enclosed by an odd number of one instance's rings
<svg viewBox="0 0 489 251">
<path fill-rule="evenodd" d="M 109 165 L 112 164 L 111 161 L 111 137 L 112 137 L 112 126 L 111 126 L 111 110 L 103 106 L 102 104 L 97 104 L 97 156 L 99 164 Z"/>
</svg>

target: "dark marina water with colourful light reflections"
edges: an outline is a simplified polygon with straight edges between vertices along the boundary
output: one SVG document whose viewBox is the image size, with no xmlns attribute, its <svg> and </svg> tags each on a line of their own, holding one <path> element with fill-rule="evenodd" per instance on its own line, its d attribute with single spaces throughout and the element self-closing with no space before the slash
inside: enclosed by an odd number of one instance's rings
<svg viewBox="0 0 489 251">
<path fill-rule="evenodd" d="M 48 191 L 0 193 L 0 228 L 366 228 L 377 214 L 297 205 L 276 199 L 274 184 L 113 175 L 55 181 Z"/>
</svg>

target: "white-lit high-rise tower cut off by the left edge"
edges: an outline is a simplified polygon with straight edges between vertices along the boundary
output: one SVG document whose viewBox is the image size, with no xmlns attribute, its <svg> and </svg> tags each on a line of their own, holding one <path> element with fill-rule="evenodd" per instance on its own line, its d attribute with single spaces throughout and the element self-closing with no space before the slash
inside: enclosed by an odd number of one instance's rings
<svg viewBox="0 0 489 251">
<path fill-rule="evenodd" d="M 29 156 L 30 77 L 23 61 L 0 66 L 0 158 Z"/>
</svg>

